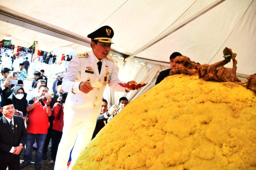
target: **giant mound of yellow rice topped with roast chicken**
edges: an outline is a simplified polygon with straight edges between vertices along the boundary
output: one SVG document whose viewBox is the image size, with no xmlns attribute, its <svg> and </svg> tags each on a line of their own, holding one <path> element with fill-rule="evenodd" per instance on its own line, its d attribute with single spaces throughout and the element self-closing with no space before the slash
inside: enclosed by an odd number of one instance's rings
<svg viewBox="0 0 256 170">
<path fill-rule="evenodd" d="M 169 76 L 116 115 L 73 169 L 256 169 L 255 93 Z"/>
</svg>

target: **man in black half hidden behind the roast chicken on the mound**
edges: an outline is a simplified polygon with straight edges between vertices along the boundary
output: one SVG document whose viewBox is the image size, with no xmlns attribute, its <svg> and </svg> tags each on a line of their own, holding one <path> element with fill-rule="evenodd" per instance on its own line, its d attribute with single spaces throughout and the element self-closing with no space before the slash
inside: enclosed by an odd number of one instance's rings
<svg viewBox="0 0 256 170">
<path fill-rule="evenodd" d="M 160 83 L 164 78 L 166 78 L 167 76 L 169 76 L 170 74 L 170 70 L 174 69 L 176 66 L 178 66 L 177 63 L 174 62 L 174 58 L 177 57 L 177 56 L 181 56 L 182 54 L 180 54 L 179 52 L 174 52 L 171 54 L 170 56 L 170 66 L 171 68 L 170 69 L 167 69 L 167 70 L 163 70 L 159 73 L 157 79 L 156 79 L 156 85 L 158 83 Z"/>
</svg>

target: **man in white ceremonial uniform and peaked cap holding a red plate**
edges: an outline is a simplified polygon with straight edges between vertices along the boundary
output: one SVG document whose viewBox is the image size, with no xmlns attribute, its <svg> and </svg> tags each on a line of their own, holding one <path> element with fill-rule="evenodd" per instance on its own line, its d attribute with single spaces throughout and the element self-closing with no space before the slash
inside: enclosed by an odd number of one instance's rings
<svg viewBox="0 0 256 170">
<path fill-rule="evenodd" d="M 68 96 L 63 109 L 65 123 L 55 170 L 68 169 L 69 152 L 75 141 L 69 169 L 73 167 L 80 152 L 91 141 L 106 85 L 120 92 L 134 90 L 118 85 L 120 80 L 114 69 L 114 60 L 109 56 L 113 36 L 114 31 L 110 26 L 103 26 L 89 34 L 87 37 L 92 40 L 92 51 L 74 55 L 69 63 L 67 74 L 62 82 L 62 89 L 68 92 Z"/>
</svg>

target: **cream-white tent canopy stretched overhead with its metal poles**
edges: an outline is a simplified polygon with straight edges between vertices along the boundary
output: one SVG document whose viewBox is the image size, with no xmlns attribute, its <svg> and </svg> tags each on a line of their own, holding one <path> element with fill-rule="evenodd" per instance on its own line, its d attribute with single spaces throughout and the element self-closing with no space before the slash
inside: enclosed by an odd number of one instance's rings
<svg viewBox="0 0 256 170">
<path fill-rule="evenodd" d="M 168 65 L 170 54 L 178 51 L 212 64 L 228 47 L 237 53 L 237 73 L 256 72 L 255 0 L 0 1 L 0 37 L 12 34 L 19 46 L 36 40 L 41 50 L 58 46 L 64 53 L 81 53 L 90 50 L 87 35 L 108 25 L 115 32 L 113 54 L 130 55 L 126 61 L 136 56 Z M 154 67 L 156 72 L 165 68 Z"/>
</svg>

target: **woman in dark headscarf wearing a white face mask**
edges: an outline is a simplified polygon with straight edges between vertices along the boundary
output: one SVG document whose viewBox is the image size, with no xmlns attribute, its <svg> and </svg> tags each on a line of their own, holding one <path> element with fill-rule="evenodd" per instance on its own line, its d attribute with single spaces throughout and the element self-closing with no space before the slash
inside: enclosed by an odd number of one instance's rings
<svg viewBox="0 0 256 170">
<path fill-rule="evenodd" d="M 8 97 L 9 99 L 12 99 L 13 106 L 15 108 L 15 115 L 25 116 L 27 113 L 26 106 L 28 104 L 28 101 L 26 99 L 27 93 L 25 93 L 24 89 L 17 85 L 13 92 L 11 92 L 11 95 Z"/>
</svg>

